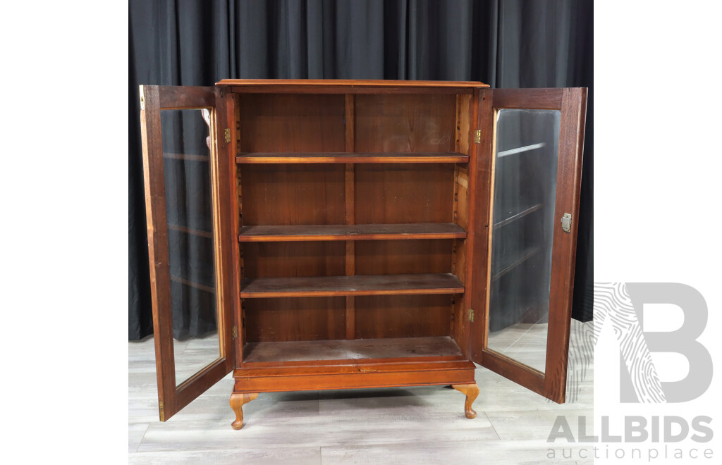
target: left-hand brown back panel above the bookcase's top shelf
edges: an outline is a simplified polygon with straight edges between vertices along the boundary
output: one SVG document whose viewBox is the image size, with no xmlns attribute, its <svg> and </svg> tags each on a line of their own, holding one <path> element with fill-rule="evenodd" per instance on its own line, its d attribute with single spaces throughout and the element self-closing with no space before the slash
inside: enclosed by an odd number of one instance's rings
<svg viewBox="0 0 722 465">
<path fill-rule="evenodd" d="M 238 95 L 238 151 L 344 151 L 344 96 Z"/>
</svg>

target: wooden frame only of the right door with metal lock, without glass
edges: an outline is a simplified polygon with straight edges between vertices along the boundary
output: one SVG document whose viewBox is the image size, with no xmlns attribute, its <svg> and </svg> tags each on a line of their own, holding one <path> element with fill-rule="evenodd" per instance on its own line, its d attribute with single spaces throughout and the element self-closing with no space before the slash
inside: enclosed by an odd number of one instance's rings
<svg viewBox="0 0 722 465">
<path fill-rule="evenodd" d="M 497 110 L 502 108 L 561 111 L 554 218 L 571 213 L 572 223 L 569 233 L 565 233 L 560 221 L 554 221 L 544 373 L 487 348 L 495 120 Z M 564 402 L 566 391 L 585 118 L 584 88 L 480 89 L 478 125 L 482 130 L 482 146 L 477 151 L 477 211 L 472 239 L 477 250 L 474 257 L 477 288 L 472 303 L 483 311 L 477 322 L 471 324 L 472 360 L 558 403 Z"/>
</svg>

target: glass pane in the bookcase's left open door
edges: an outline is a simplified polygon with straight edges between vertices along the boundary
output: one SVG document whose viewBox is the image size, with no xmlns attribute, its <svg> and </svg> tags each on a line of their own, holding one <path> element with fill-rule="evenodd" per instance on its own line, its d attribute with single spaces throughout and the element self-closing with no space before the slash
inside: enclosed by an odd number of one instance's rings
<svg viewBox="0 0 722 465">
<path fill-rule="evenodd" d="M 208 110 L 161 112 L 175 381 L 220 357 Z"/>
</svg>

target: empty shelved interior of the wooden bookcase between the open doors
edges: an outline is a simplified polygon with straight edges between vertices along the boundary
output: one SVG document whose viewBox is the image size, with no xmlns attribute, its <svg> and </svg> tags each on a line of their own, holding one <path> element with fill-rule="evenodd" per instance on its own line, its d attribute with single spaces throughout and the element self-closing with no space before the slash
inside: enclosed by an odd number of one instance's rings
<svg viewBox="0 0 722 465">
<path fill-rule="evenodd" d="M 243 363 L 465 354 L 471 94 L 232 98 Z"/>
</svg>

